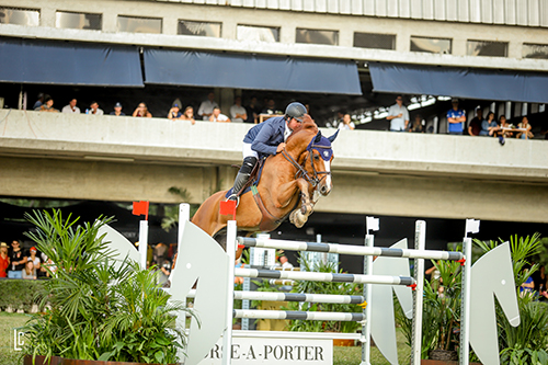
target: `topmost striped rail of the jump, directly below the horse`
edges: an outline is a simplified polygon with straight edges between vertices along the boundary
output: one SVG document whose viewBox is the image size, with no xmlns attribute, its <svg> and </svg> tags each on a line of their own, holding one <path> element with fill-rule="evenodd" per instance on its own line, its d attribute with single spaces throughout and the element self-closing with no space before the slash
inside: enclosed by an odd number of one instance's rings
<svg viewBox="0 0 548 365">
<path fill-rule="evenodd" d="M 339 243 L 298 242 L 288 240 L 259 239 L 238 237 L 238 243 L 247 247 L 260 247 L 270 249 L 282 249 L 290 251 L 331 252 L 352 255 L 391 256 L 425 260 L 450 260 L 458 261 L 464 258 L 463 252 L 435 251 L 435 250 L 410 250 L 390 249 L 381 247 L 362 247 Z"/>
</svg>

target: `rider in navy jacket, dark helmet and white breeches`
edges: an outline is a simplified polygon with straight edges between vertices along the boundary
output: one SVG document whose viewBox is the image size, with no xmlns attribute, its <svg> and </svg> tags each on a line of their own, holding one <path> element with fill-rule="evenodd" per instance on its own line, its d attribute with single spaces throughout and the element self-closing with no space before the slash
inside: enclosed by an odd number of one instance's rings
<svg viewBox="0 0 548 365">
<path fill-rule="evenodd" d="M 236 194 L 246 185 L 259 157 L 276 155 L 285 148 L 287 137 L 302 123 L 307 113 L 305 105 L 290 103 L 285 109 L 284 116 L 276 116 L 249 129 L 243 138 L 243 163 L 238 172 L 228 199 L 236 201 Z"/>
</svg>

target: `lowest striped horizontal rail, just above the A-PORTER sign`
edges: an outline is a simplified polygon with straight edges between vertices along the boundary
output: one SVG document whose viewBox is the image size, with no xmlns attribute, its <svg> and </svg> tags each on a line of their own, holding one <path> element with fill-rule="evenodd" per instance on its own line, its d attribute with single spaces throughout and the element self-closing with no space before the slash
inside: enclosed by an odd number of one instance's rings
<svg viewBox="0 0 548 365">
<path fill-rule="evenodd" d="M 255 319 L 290 319 L 306 321 L 343 321 L 359 322 L 364 320 L 363 313 L 345 313 L 333 311 L 285 311 L 285 310 L 242 310 L 235 309 L 235 318 Z"/>
</svg>

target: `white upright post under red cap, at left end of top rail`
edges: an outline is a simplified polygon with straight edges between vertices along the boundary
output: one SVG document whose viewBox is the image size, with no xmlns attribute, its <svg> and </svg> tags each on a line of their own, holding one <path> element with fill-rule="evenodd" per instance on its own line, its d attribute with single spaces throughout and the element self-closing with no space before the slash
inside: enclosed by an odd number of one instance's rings
<svg viewBox="0 0 548 365">
<path fill-rule="evenodd" d="M 227 277 L 227 322 L 222 334 L 222 365 L 230 365 L 232 357 L 232 311 L 235 303 L 235 262 L 236 262 L 236 220 L 229 220 L 227 226 L 227 254 L 230 270 Z"/>
</svg>

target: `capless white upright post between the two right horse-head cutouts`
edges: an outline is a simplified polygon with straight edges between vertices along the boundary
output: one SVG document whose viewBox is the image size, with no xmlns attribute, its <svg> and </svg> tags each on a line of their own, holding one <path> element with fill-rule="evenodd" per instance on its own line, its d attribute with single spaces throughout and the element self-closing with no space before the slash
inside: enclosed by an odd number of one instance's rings
<svg viewBox="0 0 548 365">
<path fill-rule="evenodd" d="M 424 250 L 426 247 L 426 223 L 416 220 L 414 248 Z M 411 365 L 421 364 L 422 350 L 422 309 L 424 303 L 424 259 L 414 260 L 415 289 L 413 290 L 413 329 L 411 338 Z"/>
</svg>

